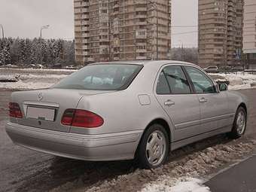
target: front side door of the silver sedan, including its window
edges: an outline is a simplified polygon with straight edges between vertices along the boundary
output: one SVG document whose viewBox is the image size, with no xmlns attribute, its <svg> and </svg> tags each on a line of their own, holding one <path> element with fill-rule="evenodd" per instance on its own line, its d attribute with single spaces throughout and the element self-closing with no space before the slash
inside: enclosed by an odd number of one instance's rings
<svg viewBox="0 0 256 192">
<path fill-rule="evenodd" d="M 230 125 L 232 114 L 228 111 L 227 93 L 219 93 L 212 79 L 202 70 L 184 66 L 200 102 L 202 133 Z"/>
</svg>

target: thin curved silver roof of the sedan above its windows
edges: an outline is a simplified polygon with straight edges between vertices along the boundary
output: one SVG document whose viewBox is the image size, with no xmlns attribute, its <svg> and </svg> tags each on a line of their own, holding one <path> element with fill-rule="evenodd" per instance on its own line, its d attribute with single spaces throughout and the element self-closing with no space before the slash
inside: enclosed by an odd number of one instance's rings
<svg viewBox="0 0 256 192">
<path fill-rule="evenodd" d="M 190 62 L 183 62 L 183 61 L 176 61 L 176 60 L 137 60 L 137 61 L 113 61 L 113 62 L 96 62 L 92 63 L 89 66 L 93 65 L 100 65 L 100 64 L 130 64 L 130 65 L 141 65 L 141 66 L 148 66 L 148 65 L 159 65 L 163 66 L 166 64 L 170 65 L 186 65 L 186 66 L 197 66 Z M 198 66 L 197 66 L 198 67 Z"/>
</svg>

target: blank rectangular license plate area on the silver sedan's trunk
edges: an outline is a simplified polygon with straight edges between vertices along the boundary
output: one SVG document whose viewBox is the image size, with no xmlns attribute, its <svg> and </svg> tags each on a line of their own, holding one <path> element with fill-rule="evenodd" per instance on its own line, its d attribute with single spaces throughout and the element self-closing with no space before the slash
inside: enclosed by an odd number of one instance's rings
<svg viewBox="0 0 256 192">
<path fill-rule="evenodd" d="M 26 110 L 26 117 L 38 120 L 54 121 L 55 109 L 28 106 Z"/>
</svg>

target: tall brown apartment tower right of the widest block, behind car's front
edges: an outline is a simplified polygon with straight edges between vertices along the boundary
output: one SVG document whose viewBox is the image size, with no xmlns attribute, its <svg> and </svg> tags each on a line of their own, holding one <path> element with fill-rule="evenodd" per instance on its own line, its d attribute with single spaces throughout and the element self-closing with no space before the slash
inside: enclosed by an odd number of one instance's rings
<svg viewBox="0 0 256 192">
<path fill-rule="evenodd" d="M 241 62 L 243 0 L 199 0 L 200 66 Z"/>
</svg>

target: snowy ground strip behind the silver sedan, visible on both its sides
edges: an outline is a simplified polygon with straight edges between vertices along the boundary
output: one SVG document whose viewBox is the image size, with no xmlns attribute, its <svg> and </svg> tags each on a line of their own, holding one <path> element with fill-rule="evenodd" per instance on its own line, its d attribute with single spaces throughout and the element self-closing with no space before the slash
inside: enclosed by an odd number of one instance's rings
<svg viewBox="0 0 256 192">
<path fill-rule="evenodd" d="M 48 88 L 56 84 L 67 75 L 76 72 L 69 69 L 0 69 L 1 80 L 13 80 L 18 82 L 2 83 L 0 89 L 29 90 Z M 234 74 L 209 74 L 215 81 L 230 81 L 230 90 L 248 89 L 256 87 L 256 75 L 248 73 Z"/>
</svg>

